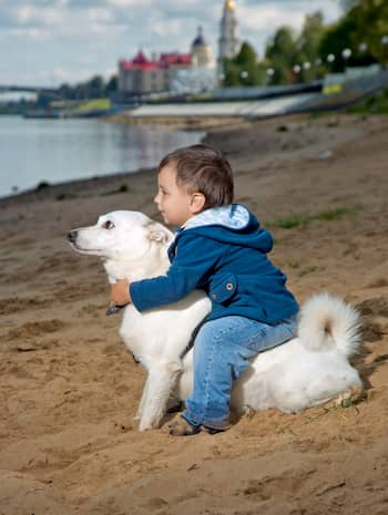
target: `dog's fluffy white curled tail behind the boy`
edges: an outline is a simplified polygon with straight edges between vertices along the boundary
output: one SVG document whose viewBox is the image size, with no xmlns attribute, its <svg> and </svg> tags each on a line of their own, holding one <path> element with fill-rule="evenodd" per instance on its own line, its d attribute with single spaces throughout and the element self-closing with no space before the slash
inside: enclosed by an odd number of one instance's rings
<svg viewBox="0 0 388 515">
<path fill-rule="evenodd" d="M 298 337 L 310 351 L 337 350 L 346 358 L 358 351 L 361 341 L 358 312 L 328 293 L 312 297 L 302 306 Z"/>
</svg>

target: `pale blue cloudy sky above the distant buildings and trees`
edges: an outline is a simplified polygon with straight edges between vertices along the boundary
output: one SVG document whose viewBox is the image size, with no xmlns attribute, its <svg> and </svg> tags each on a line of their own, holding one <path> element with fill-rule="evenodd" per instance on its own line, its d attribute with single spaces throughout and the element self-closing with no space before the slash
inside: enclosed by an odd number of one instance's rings
<svg viewBox="0 0 388 515">
<path fill-rule="evenodd" d="M 188 52 L 202 25 L 217 54 L 223 0 L 0 0 L 0 84 L 58 86 L 93 75 L 109 79 L 119 59 L 139 48 Z M 263 56 L 283 24 L 299 31 L 306 14 L 325 23 L 340 16 L 339 0 L 237 0 L 238 37 Z"/>
</svg>

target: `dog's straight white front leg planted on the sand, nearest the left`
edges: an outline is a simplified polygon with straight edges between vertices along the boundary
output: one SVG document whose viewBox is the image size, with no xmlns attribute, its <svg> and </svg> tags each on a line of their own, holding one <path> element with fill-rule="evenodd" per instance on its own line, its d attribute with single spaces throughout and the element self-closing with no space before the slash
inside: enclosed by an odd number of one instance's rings
<svg viewBox="0 0 388 515">
<path fill-rule="evenodd" d="M 170 394 L 181 371 L 182 365 L 177 362 L 157 363 L 149 368 L 145 398 L 141 402 L 140 431 L 161 426 Z"/>
</svg>

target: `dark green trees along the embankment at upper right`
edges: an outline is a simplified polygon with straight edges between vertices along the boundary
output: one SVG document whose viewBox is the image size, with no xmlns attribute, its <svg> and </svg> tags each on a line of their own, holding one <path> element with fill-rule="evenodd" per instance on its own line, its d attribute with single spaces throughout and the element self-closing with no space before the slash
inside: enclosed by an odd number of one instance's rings
<svg viewBox="0 0 388 515">
<path fill-rule="evenodd" d="M 257 59 L 244 42 L 224 62 L 223 85 L 265 85 L 310 82 L 347 66 L 388 63 L 388 0 L 343 0 L 343 16 L 324 23 L 320 11 L 306 16 L 300 33 L 283 25 Z"/>
</svg>

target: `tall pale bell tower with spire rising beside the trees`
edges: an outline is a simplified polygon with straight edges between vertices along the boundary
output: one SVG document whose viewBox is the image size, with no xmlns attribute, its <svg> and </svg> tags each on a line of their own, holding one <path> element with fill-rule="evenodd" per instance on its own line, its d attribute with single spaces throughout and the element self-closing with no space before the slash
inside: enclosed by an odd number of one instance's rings
<svg viewBox="0 0 388 515">
<path fill-rule="evenodd" d="M 234 58 L 238 53 L 238 50 L 236 4 L 234 0 L 225 0 L 218 39 L 218 75 L 224 72 L 224 59 Z"/>
</svg>

